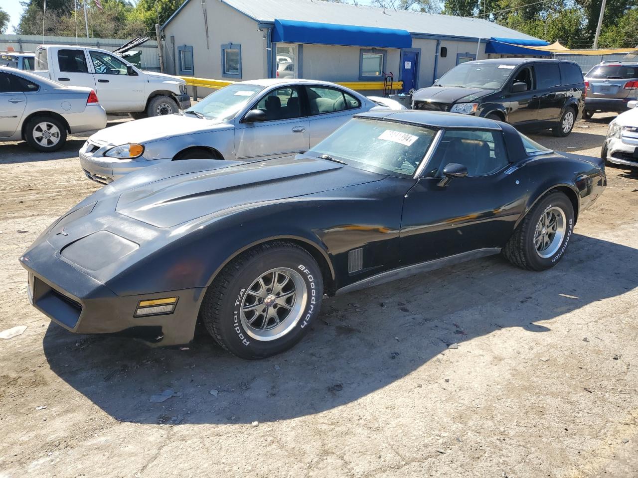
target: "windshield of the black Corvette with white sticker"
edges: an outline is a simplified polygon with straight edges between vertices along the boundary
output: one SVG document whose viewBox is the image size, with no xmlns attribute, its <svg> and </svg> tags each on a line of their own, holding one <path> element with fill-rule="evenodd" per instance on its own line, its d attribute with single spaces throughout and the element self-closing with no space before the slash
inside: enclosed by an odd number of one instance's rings
<svg viewBox="0 0 638 478">
<path fill-rule="evenodd" d="M 436 130 L 382 120 L 352 119 L 309 150 L 369 171 L 412 176 Z"/>
</svg>

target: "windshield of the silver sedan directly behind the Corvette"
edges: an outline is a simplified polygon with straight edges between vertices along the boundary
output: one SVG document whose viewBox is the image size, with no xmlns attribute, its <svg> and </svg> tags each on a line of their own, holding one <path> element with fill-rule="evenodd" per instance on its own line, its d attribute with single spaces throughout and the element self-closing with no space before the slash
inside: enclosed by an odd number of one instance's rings
<svg viewBox="0 0 638 478">
<path fill-rule="evenodd" d="M 212 92 L 197 105 L 191 106 L 186 111 L 200 113 L 207 119 L 231 119 L 246 106 L 246 103 L 253 96 L 262 90 L 263 86 L 235 83 Z"/>
</svg>

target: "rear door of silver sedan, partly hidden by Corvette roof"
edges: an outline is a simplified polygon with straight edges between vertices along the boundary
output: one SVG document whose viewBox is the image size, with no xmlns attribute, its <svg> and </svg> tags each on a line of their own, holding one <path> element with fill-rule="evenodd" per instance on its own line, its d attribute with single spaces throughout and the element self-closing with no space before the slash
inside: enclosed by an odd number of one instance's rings
<svg viewBox="0 0 638 478">
<path fill-rule="evenodd" d="M 332 134 L 352 115 L 361 111 L 361 102 L 351 94 L 334 87 L 308 85 L 310 147 Z"/>
</svg>

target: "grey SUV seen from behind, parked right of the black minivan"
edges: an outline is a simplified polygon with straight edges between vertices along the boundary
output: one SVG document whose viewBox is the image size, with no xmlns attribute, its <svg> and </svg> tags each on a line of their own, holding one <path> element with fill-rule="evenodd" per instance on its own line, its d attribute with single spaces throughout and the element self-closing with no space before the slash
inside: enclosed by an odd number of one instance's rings
<svg viewBox="0 0 638 478">
<path fill-rule="evenodd" d="M 626 112 L 628 103 L 638 99 L 638 62 L 604 61 L 588 71 L 585 82 L 584 119 L 595 112 Z"/>
</svg>

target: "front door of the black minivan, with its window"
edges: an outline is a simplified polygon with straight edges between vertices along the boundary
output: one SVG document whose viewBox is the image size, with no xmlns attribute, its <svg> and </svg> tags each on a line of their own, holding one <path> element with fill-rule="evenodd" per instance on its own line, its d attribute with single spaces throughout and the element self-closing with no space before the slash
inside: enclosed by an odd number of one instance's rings
<svg viewBox="0 0 638 478">
<path fill-rule="evenodd" d="M 500 65 L 510 67 L 512 65 Z M 524 124 L 538 120 L 539 94 L 536 88 L 535 68 L 531 64 L 519 67 L 504 87 L 507 122 L 510 124 Z M 525 83 L 527 91 L 512 92 L 514 83 Z"/>
</svg>

